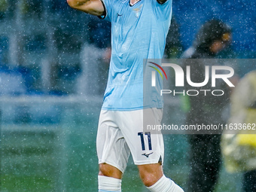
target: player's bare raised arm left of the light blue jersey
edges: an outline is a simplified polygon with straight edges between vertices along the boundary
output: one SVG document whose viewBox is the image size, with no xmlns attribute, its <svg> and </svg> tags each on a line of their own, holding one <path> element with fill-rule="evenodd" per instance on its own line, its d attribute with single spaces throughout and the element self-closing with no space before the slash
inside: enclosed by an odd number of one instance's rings
<svg viewBox="0 0 256 192">
<path fill-rule="evenodd" d="M 67 0 L 70 7 L 87 14 L 101 16 L 105 12 L 104 5 L 101 0 Z"/>
</svg>

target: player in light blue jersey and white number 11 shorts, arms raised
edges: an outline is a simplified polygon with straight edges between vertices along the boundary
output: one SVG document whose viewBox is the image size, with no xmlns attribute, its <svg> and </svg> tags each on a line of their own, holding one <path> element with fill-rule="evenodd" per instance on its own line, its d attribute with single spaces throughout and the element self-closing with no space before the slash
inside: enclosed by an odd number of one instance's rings
<svg viewBox="0 0 256 192">
<path fill-rule="evenodd" d="M 163 136 L 143 132 L 143 111 L 159 124 L 163 99 L 143 102 L 144 59 L 161 59 L 172 0 L 67 0 L 72 8 L 111 22 L 111 62 L 97 134 L 99 191 L 121 191 L 130 152 L 150 191 L 182 192 L 163 175 Z M 149 68 L 148 68 L 149 69 Z"/>
</svg>

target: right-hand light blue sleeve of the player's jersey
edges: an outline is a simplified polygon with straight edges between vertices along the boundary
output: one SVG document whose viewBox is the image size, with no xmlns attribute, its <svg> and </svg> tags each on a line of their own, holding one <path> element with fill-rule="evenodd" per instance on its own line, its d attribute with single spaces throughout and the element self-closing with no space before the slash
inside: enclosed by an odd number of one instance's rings
<svg viewBox="0 0 256 192">
<path fill-rule="evenodd" d="M 172 0 L 166 0 L 163 4 L 160 4 L 157 0 L 152 0 L 154 14 L 157 16 L 157 20 L 165 21 L 170 20 L 172 17 Z"/>
</svg>

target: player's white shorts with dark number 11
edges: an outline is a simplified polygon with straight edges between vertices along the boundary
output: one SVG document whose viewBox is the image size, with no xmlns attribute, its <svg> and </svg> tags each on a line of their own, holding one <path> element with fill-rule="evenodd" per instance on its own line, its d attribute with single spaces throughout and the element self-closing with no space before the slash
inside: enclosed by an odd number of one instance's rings
<svg viewBox="0 0 256 192">
<path fill-rule="evenodd" d="M 144 110 L 147 110 L 145 119 L 149 120 L 149 123 L 161 123 L 162 109 Z M 163 163 L 163 135 L 143 131 L 143 110 L 102 110 L 96 145 L 99 163 L 108 163 L 121 172 L 126 169 L 130 152 L 136 165 Z"/>
</svg>

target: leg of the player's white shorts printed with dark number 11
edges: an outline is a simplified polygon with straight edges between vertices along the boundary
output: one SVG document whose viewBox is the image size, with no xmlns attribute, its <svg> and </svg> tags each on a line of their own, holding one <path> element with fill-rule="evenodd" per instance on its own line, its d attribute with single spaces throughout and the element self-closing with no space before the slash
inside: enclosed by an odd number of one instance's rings
<svg viewBox="0 0 256 192">
<path fill-rule="evenodd" d="M 157 108 L 148 108 L 146 121 L 148 123 L 160 124 L 163 111 Z M 145 111 L 120 111 L 122 119 L 120 127 L 123 137 L 133 155 L 133 161 L 136 165 L 154 164 L 163 161 L 164 146 L 163 135 L 152 134 L 150 130 L 143 129 L 145 122 Z"/>
</svg>

